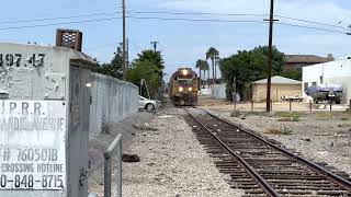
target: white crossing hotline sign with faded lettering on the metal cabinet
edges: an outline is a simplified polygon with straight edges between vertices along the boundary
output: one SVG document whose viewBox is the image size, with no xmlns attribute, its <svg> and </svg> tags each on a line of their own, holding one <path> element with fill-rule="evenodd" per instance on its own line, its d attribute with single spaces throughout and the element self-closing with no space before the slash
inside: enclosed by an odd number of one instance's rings
<svg viewBox="0 0 351 197">
<path fill-rule="evenodd" d="M 65 102 L 0 100 L 0 189 L 64 189 L 65 134 Z"/>
</svg>

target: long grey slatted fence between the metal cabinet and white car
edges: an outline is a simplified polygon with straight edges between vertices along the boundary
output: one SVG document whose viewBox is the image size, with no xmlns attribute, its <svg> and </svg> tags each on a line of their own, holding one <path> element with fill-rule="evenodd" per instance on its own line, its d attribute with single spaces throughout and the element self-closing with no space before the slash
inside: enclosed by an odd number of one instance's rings
<svg viewBox="0 0 351 197">
<path fill-rule="evenodd" d="M 115 78 L 91 73 L 89 139 L 101 132 L 104 124 L 117 123 L 138 111 L 138 88 Z"/>
</svg>

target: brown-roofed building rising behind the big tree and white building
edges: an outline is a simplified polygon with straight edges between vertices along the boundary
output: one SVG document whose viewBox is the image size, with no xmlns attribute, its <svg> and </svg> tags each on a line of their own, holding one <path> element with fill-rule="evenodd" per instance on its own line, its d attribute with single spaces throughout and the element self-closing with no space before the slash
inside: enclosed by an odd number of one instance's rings
<svg viewBox="0 0 351 197">
<path fill-rule="evenodd" d="M 306 66 L 333 61 L 333 57 L 329 54 L 327 57 L 315 55 L 285 55 L 284 70 L 299 69 Z"/>
</svg>

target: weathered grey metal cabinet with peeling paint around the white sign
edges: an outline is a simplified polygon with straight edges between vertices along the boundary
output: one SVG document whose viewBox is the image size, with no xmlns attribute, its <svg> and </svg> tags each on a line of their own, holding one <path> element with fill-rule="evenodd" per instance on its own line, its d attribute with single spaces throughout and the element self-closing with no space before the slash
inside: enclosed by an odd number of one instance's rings
<svg viewBox="0 0 351 197">
<path fill-rule="evenodd" d="M 82 197 L 88 195 L 88 182 L 82 178 L 83 171 L 88 170 L 88 118 L 89 114 L 89 89 L 86 83 L 88 82 L 89 63 L 92 63 L 92 58 L 79 51 L 61 48 L 61 47 L 47 47 L 37 45 L 18 45 L 18 44 L 0 44 L 0 54 L 3 56 L 21 55 L 22 58 L 15 59 L 19 65 L 2 65 L 0 67 L 0 93 L 8 94 L 9 100 L 24 100 L 35 102 L 63 102 L 67 108 L 66 121 L 64 132 L 65 139 L 54 138 L 52 144 L 63 146 L 63 149 L 57 149 L 58 152 L 65 153 L 65 159 L 59 159 L 55 163 L 65 163 L 66 182 L 63 189 L 1 189 L 0 196 L 7 197 Z M 35 55 L 35 60 L 29 61 Z M 41 56 L 44 57 L 43 60 Z M 75 65 L 72 60 L 86 62 Z M 35 63 L 34 63 L 35 62 Z M 39 63 L 42 62 L 42 63 Z M 88 63 L 88 65 L 87 65 Z M 73 93 L 75 92 L 75 93 Z M 50 109 L 50 114 L 55 109 Z M 24 130 L 25 131 L 25 130 Z M 41 134 L 41 137 L 49 134 L 41 130 L 33 130 Z M 45 134 L 45 135 L 44 135 Z M 2 136 L 2 134 L 1 134 Z M 37 143 L 42 142 L 37 138 Z M 27 140 L 27 139 L 22 139 Z M 21 142 L 21 141 L 19 141 Z M 44 141 L 47 142 L 47 141 Z M 2 141 L 1 141 L 2 143 Z M 48 149 L 47 146 L 33 146 L 34 141 L 26 143 L 10 144 L 3 142 L 2 146 L 15 148 L 39 148 Z M 2 162 L 2 161 L 1 161 Z M 48 161 L 41 161 L 46 164 L 52 164 Z M 3 162 L 4 163 L 4 162 Z M 31 162 L 27 162 L 31 163 Z M 2 174 L 9 174 L 1 172 Z M 45 175 L 45 173 L 18 173 L 23 175 Z M 46 173 L 47 175 L 47 173 Z M 39 184 L 39 183 L 38 183 Z"/>
</svg>

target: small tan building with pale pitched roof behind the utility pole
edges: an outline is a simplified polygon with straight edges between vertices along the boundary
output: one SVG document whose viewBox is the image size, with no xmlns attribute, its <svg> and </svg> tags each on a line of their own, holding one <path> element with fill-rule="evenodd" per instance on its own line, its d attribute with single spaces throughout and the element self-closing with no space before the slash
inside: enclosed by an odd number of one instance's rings
<svg viewBox="0 0 351 197">
<path fill-rule="evenodd" d="M 271 97 L 273 101 L 282 101 L 283 96 L 302 96 L 302 82 L 274 76 L 271 79 Z M 254 81 L 252 83 L 253 102 L 263 102 L 267 99 L 267 79 Z"/>
</svg>

